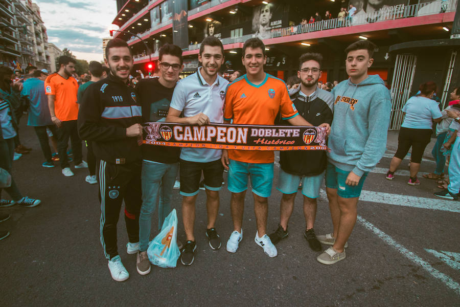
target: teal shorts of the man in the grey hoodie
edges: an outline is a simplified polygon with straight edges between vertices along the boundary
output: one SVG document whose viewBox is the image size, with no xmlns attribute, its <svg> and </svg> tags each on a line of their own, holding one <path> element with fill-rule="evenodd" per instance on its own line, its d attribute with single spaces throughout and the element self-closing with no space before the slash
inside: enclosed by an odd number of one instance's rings
<svg viewBox="0 0 460 307">
<path fill-rule="evenodd" d="M 326 187 L 330 189 L 337 189 L 337 195 L 341 198 L 359 197 L 359 195 L 361 195 L 362 185 L 367 177 L 367 172 L 361 176 L 361 179 L 356 186 L 345 184 L 349 173 L 350 172 L 347 170 L 340 169 L 335 165 L 328 163 L 326 168 Z"/>
</svg>

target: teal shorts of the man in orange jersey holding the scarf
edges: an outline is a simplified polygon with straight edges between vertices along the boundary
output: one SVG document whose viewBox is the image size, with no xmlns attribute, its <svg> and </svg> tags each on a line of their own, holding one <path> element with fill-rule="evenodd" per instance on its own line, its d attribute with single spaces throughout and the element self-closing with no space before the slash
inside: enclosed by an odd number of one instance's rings
<svg viewBox="0 0 460 307">
<path fill-rule="evenodd" d="M 261 197 L 269 197 L 273 184 L 273 163 L 246 163 L 229 159 L 228 190 L 240 193 L 247 189 L 247 179 L 251 180 L 252 192 Z"/>
</svg>

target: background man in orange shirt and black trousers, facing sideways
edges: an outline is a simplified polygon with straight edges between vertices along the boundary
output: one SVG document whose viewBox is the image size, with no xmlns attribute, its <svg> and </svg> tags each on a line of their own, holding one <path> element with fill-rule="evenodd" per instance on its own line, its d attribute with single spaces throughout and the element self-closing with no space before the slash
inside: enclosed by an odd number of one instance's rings
<svg viewBox="0 0 460 307">
<path fill-rule="evenodd" d="M 51 74 L 45 80 L 45 94 L 48 95 L 48 107 L 51 120 L 58 127 L 58 152 L 62 174 L 74 176 L 67 158 L 67 143 L 71 139 L 74 152 L 75 168 L 87 168 L 82 160 L 81 140 L 78 137 L 77 118 L 77 80 L 72 77 L 75 72 L 75 59 L 69 56 L 59 57 L 59 71 Z"/>
</svg>

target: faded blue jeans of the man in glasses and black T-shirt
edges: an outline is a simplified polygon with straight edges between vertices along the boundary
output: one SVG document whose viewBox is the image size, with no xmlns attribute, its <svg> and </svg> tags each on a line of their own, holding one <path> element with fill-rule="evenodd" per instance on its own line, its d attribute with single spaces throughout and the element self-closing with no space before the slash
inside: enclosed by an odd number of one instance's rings
<svg viewBox="0 0 460 307">
<path fill-rule="evenodd" d="M 163 221 L 171 212 L 172 190 L 178 168 L 179 163 L 142 162 L 142 207 L 139 217 L 141 252 L 146 251 L 149 246 L 152 214 L 155 212 L 158 194 L 158 230 L 162 228 Z"/>
</svg>

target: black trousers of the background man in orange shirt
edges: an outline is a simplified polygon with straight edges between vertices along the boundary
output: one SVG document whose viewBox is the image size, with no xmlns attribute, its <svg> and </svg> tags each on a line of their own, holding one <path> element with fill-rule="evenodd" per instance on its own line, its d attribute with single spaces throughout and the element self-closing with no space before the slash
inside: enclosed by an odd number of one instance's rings
<svg viewBox="0 0 460 307">
<path fill-rule="evenodd" d="M 77 120 L 61 122 L 61 127 L 57 129 L 57 137 L 61 168 L 64 169 L 70 166 L 67 159 L 67 143 L 69 138 L 71 139 L 72 151 L 74 152 L 74 163 L 75 165 L 80 164 L 82 160 L 82 153 L 81 140 L 78 136 L 77 130 Z"/>
</svg>

